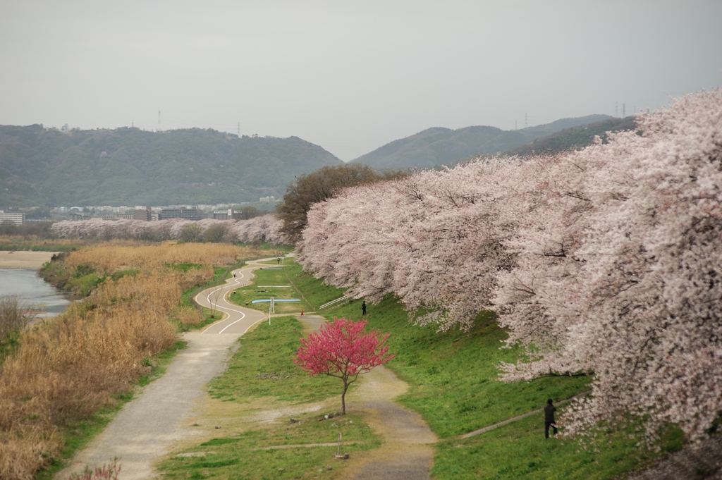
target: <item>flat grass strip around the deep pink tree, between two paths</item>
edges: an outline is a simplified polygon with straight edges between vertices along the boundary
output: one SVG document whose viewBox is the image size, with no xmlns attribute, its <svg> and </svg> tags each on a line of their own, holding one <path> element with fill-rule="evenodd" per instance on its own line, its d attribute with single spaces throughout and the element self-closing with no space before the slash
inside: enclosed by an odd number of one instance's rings
<svg viewBox="0 0 722 480">
<path fill-rule="evenodd" d="M 336 378 L 310 377 L 293 363 L 303 327 L 293 317 L 261 323 L 240 339 L 240 349 L 228 369 L 209 384 L 218 401 L 248 404 L 264 400 L 264 409 L 323 403 L 331 407 L 283 416 L 274 422 L 250 422 L 250 429 L 219 437 L 176 454 L 160 465 L 171 479 L 337 478 L 343 463 L 335 462 L 336 447 L 267 449 L 269 446 L 325 443 L 343 435 L 344 453 L 376 448 L 378 437 L 354 412 L 318 422 L 340 409 L 341 384 Z M 337 408 L 333 408 L 337 405 Z M 345 442 L 354 442 L 352 445 Z M 191 453 L 192 456 L 184 454 Z M 199 456 L 201 455 L 201 456 Z M 327 466 L 331 466 L 329 470 Z"/>
</svg>

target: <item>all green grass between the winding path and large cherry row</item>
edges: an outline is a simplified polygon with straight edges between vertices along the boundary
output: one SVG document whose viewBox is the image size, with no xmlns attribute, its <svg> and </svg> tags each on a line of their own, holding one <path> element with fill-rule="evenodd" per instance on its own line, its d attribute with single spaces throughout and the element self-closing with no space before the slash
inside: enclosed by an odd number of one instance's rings
<svg viewBox="0 0 722 480">
<path fill-rule="evenodd" d="M 277 288 L 274 293 L 278 297 L 281 292 L 288 292 L 288 297 L 302 299 L 310 311 L 343 294 L 342 290 L 305 274 L 289 258 L 282 268 L 256 271 L 256 285 Z M 256 285 L 239 289 L 233 300 L 243 304 L 269 295 L 270 290 L 256 292 L 259 289 Z M 292 288 L 273 287 L 283 285 Z M 613 479 L 682 447 L 681 433 L 671 428 L 663 437 L 661 453 L 641 448 L 631 435 L 633 425 L 628 432 L 610 429 L 587 442 L 568 438 L 545 440 L 541 413 L 461 440 L 466 432 L 539 409 L 547 398 L 558 402 L 586 391 L 591 378 L 498 381 L 495 365 L 516 361 L 520 352 L 500 349 L 506 333 L 497 327 L 491 315 L 479 315 L 477 326 L 470 332 L 438 333 L 434 326 L 409 324 L 406 312 L 391 297 L 379 305 L 369 305 L 368 312 L 370 328 L 391 332 L 388 343 L 396 358 L 387 366 L 409 384 L 399 403 L 421 414 L 440 439 L 431 471 L 435 479 Z M 361 300 L 344 301 L 318 313 L 329 319 L 345 316 L 358 320 Z M 293 318 L 274 320 L 270 328 L 266 323 L 259 324 L 240 340 L 241 348 L 231 359 L 228 370 L 209 385 L 209 393 L 217 401 L 240 404 L 267 398 L 264 409 L 339 396 L 336 379 L 310 378 L 292 363 L 301 334 L 300 323 Z M 558 413 L 564 408 L 560 406 Z M 342 473 L 337 463 L 331 463 L 332 470 L 326 470 L 334 448 L 254 449 L 329 442 L 339 431 L 343 432 L 344 440 L 364 442 L 349 449 L 379 445 L 362 419 L 353 413 L 342 422 L 312 421 L 317 417 L 298 416 L 303 428 L 274 422 L 211 440 L 186 451 L 204 456 L 176 456 L 162 464 L 162 471 L 169 478 L 182 479 L 335 478 Z M 352 423 L 344 423 L 349 419 Z"/>
</svg>

